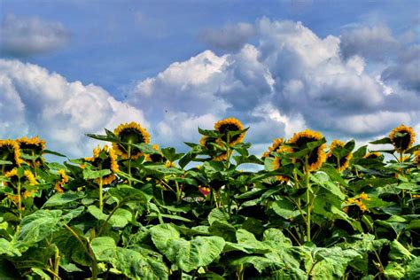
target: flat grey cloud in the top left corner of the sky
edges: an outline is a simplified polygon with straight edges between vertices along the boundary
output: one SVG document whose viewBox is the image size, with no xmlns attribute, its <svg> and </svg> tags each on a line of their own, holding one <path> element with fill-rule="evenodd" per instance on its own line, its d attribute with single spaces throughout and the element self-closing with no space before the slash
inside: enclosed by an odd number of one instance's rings
<svg viewBox="0 0 420 280">
<path fill-rule="evenodd" d="M 62 48 L 70 37 L 59 22 L 18 18 L 9 13 L 0 26 L 0 51 L 12 57 L 44 54 Z"/>
</svg>

